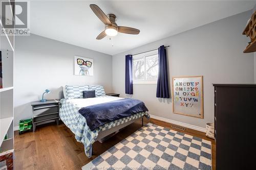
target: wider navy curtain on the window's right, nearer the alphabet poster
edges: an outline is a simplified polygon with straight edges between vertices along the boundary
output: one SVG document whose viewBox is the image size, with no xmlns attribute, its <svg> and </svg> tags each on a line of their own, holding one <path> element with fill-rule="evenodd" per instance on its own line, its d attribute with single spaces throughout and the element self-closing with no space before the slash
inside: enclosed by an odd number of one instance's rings
<svg viewBox="0 0 256 170">
<path fill-rule="evenodd" d="M 164 45 L 158 48 L 157 98 L 170 98 L 168 88 L 167 59 Z"/>
</svg>

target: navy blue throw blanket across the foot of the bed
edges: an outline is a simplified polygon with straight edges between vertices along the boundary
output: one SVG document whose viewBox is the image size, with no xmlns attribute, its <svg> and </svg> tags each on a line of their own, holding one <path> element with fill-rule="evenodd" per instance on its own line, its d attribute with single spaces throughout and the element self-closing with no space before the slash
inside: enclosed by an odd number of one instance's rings
<svg viewBox="0 0 256 170">
<path fill-rule="evenodd" d="M 93 131 L 106 123 L 145 111 L 148 111 L 145 104 L 139 100 L 120 99 L 83 107 L 78 112 L 86 118 L 87 125 Z"/>
</svg>

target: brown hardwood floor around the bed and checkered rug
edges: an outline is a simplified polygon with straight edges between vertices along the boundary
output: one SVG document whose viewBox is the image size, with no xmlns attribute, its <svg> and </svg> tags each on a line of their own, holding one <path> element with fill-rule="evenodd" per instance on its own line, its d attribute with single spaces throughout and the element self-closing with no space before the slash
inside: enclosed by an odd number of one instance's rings
<svg viewBox="0 0 256 170">
<path fill-rule="evenodd" d="M 170 128 L 172 124 L 151 118 L 144 118 L 144 124 L 153 124 Z M 82 143 L 77 142 L 73 133 L 64 124 L 59 126 L 48 124 L 36 128 L 36 132 L 22 135 L 14 132 L 14 167 L 15 169 L 81 169 L 81 166 L 92 161 L 122 139 L 130 136 L 141 127 L 137 121 L 114 135 L 103 143 L 95 142 L 93 145 L 93 156 L 88 158 L 84 154 Z M 170 128 L 173 129 L 173 128 Z M 173 129 L 179 131 L 177 129 Z M 215 141 L 205 136 L 205 133 L 187 129 L 180 131 L 192 136 L 197 136 L 212 143 L 212 168 L 215 170 Z"/>
</svg>

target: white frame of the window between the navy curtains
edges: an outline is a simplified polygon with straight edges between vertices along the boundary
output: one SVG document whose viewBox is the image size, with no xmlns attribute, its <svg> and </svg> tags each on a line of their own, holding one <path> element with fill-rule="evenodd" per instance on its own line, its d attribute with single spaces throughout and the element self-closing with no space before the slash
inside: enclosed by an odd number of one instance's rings
<svg viewBox="0 0 256 170">
<path fill-rule="evenodd" d="M 137 59 L 144 59 L 144 79 L 143 80 L 133 80 L 133 84 L 157 84 L 157 79 L 156 80 L 146 80 L 146 57 L 158 55 L 158 49 L 151 51 L 151 52 L 146 52 L 142 54 L 137 54 L 133 56 L 133 62 L 134 60 Z M 133 78 L 134 78 L 134 69 L 133 69 Z"/>
</svg>

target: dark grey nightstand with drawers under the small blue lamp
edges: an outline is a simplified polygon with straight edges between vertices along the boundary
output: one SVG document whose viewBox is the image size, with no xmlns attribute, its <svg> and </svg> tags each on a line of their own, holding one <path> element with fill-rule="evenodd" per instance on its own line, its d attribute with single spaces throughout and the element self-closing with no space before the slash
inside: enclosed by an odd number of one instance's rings
<svg viewBox="0 0 256 170">
<path fill-rule="evenodd" d="M 51 120 L 59 124 L 59 100 L 47 100 L 46 102 L 31 102 L 33 114 L 33 132 L 37 125 L 49 123 Z"/>
</svg>

